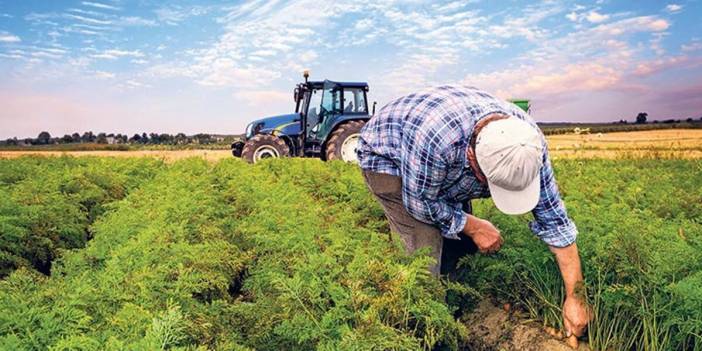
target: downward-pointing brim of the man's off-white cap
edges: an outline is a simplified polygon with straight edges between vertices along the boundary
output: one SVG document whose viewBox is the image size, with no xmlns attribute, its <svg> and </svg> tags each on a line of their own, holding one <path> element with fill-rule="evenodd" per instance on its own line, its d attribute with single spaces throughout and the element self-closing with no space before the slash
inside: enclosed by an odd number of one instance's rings
<svg viewBox="0 0 702 351">
<path fill-rule="evenodd" d="M 520 215 L 533 210 L 539 202 L 541 177 L 537 175 L 526 188 L 519 191 L 507 190 L 490 182 L 488 187 L 498 210 L 508 215 Z"/>
</svg>

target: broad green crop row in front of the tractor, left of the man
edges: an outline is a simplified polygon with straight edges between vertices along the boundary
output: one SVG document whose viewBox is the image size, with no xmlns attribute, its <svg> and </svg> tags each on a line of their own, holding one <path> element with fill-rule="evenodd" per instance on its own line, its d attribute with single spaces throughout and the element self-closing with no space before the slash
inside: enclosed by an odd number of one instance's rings
<svg viewBox="0 0 702 351">
<path fill-rule="evenodd" d="M 19 269 L 0 282 L 0 349 L 456 348 L 463 328 L 429 259 L 403 255 L 377 218 L 358 225 L 351 207 L 290 186 L 320 168 L 291 163 L 313 167 L 187 160 L 158 172 L 50 277 Z"/>
</svg>

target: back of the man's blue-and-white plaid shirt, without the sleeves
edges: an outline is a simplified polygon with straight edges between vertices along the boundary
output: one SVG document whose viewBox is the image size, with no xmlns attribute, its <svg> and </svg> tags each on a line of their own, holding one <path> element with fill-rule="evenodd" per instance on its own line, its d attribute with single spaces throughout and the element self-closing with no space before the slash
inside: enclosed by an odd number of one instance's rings
<svg viewBox="0 0 702 351">
<path fill-rule="evenodd" d="M 363 128 L 358 145 L 360 166 L 400 175 L 403 159 L 417 147 L 461 157 L 475 123 L 495 112 L 536 126 L 517 106 L 473 87 L 445 85 L 400 97 L 381 108 Z"/>
</svg>

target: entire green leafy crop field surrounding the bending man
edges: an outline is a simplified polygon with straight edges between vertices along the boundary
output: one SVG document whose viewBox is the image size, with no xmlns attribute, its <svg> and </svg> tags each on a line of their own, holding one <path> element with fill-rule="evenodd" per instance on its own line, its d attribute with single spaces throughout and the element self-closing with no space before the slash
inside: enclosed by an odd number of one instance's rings
<svg viewBox="0 0 702 351">
<path fill-rule="evenodd" d="M 557 160 L 594 350 L 702 350 L 702 161 Z M 559 327 L 530 215 L 460 280 L 407 256 L 359 170 L 285 159 L 0 160 L 0 349 L 470 349 L 478 301 Z"/>
</svg>

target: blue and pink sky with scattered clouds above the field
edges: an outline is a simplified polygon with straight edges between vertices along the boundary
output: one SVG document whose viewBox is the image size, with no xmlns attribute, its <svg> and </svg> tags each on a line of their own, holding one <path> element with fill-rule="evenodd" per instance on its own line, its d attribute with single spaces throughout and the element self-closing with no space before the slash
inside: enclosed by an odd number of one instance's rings
<svg viewBox="0 0 702 351">
<path fill-rule="evenodd" d="M 241 133 L 293 88 L 439 84 L 537 121 L 702 116 L 702 0 L 0 0 L 0 138 Z"/>
</svg>

